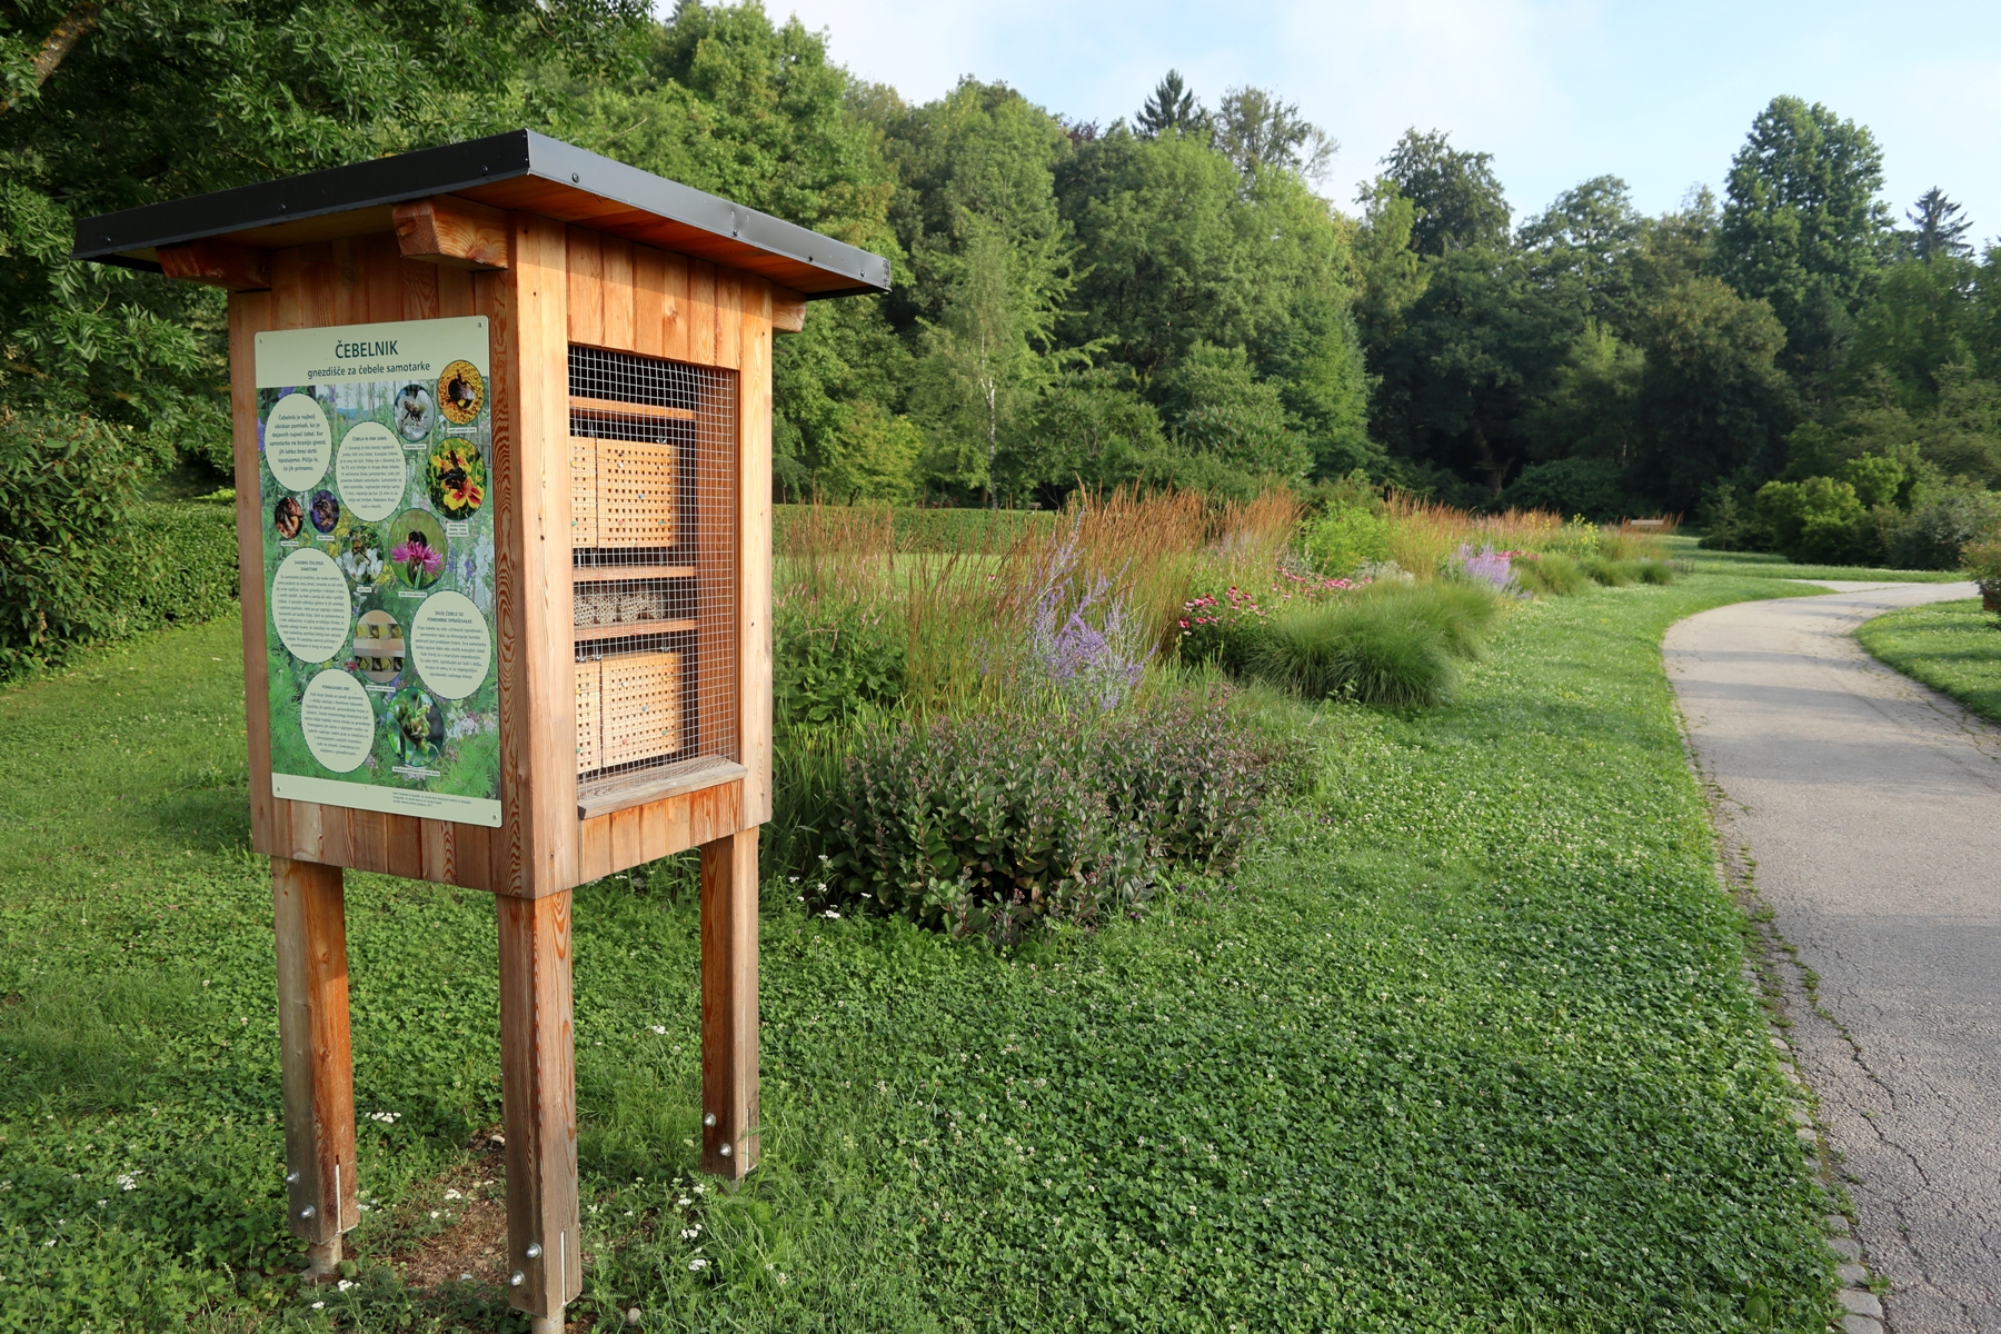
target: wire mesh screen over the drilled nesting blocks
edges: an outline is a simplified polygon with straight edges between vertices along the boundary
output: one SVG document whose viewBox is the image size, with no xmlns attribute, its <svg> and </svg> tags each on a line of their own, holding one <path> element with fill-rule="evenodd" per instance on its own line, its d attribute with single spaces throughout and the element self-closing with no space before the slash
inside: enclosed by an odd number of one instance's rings
<svg viewBox="0 0 2001 1334">
<path fill-rule="evenodd" d="M 570 348 L 576 774 L 736 760 L 736 372 Z"/>
</svg>

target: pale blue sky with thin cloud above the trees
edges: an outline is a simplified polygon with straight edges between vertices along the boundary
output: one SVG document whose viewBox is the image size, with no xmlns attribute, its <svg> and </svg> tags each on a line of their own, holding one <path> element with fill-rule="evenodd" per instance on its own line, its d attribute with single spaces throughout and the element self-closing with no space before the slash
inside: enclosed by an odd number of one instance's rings
<svg viewBox="0 0 2001 1334">
<path fill-rule="evenodd" d="M 1073 120 L 1127 120 L 1169 68 L 1215 106 L 1233 86 L 1297 102 L 1341 142 L 1321 190 L 1353 212 L 1407 126 L 1491 152 L 1517 218 L 1599 174 L 1643 212 L 1723 194 L 1779 94 L 1869 126 L 1897 216 L 1941 186 L 1971 236 L 2001 232 L 2001 4 L 1589 0 L 766 0 L 834 60 L 926 102 L 962 74 Z M 1909 20 L 1909 22 L 1905 22 Z"/>
</svg>

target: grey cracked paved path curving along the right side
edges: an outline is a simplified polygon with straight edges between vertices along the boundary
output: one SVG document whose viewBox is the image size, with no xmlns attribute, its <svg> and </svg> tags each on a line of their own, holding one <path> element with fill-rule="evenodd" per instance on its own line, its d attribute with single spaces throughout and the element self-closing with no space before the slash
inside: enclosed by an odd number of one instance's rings
<svg viewBox="0 0 2001 1334">
<path fill-rule="evenodd" d="M 1725 846 L 1819 974 L 1789 1038 L 1891 1330 L 2001 1334 L 2001 728 L 1851 634 L 1973 586 L 1829 586 L 1683 620 L 1667 672 Z"/>
</svg>

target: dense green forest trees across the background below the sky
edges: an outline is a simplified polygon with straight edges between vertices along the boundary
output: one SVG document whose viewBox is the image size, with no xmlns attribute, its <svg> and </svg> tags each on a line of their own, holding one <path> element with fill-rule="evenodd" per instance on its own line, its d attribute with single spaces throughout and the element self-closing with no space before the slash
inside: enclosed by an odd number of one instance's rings
<svg viewBox="0 0 2001 1334">
<path fill-rule="evenodd" d="M 72 264 L 74 218 L 526 124 L 890 256 L 892 292 L 816 302 L 778 346 L 790 496 L 1361 470 L 1881 556 L 1941 504 L 1935 528 L 1991 518 L 2001 480 L 2001 252 L 1941 190 L 1881 202 L 1871 132 L 1797 98 L 1721 196 L 1647 216 L 1597 176 L 1517 224 L 1491 156 L 1439 132 L 1335 202 L 1337 144 L 1281 92 L 1169 74 L 1113 124 L 974 78 L 910 104 L 758 4 L 0 14 L 0 410 L 156 460 L 226 456 L 220 296 Z"/>
</svg>

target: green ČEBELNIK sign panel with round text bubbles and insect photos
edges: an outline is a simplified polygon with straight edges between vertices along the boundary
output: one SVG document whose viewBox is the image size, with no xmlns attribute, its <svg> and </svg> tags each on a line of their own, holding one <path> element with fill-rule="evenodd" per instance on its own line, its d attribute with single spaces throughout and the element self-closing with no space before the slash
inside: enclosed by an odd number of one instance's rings
<svg viewBox="0 0 2001 1334">
<path fill-rule="evenodd" d="M 256 336 L 270 790 L 500 824 L 486 318 Z"/>
</svg>

